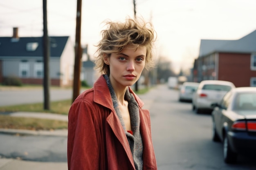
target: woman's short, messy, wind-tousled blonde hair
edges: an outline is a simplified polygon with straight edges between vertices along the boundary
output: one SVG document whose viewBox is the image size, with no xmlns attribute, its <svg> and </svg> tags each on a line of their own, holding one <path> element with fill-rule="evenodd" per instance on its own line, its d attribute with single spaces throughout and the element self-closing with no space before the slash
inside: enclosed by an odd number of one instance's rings
<svg viewBox="0 0 256 170">
<path fill-rule="evenodd" d="M 105 64 L 103 57 L 110 57 L 111 53 L 121 52 L 128 45 L 145 46 L 145 68 L 153 67 L 153 42 L 155 30 L 150 22 L 140 19 L 126 18 L 125 22 L 106 21 L 107 29 L 101 31 L 102 39 L 97 47 L 98 56 L 95 68 L 102 73 L 110 75 L 109 65 Z"/>
</svg>

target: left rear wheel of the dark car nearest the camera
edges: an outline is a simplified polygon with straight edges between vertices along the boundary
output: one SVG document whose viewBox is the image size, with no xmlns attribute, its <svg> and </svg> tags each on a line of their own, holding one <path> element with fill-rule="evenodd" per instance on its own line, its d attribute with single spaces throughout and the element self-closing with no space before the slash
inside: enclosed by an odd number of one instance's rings
<svg viewBox="0 0 256 170">
<path fill-rule="evenodd" d="M 236 163 L 237 154 L 231 150 L 226 134 L 223 140 L 223 157 L 225 163 Z"/>
</svg>

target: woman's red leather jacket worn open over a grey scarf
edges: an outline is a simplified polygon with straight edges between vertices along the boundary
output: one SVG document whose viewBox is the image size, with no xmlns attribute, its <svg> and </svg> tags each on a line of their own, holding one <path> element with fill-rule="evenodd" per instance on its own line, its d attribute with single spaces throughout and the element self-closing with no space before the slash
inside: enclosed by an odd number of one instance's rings
<svg viewBox="0 0 256 170">
<path fill-rule="evenodd" d="M 133 94 L 139 104 L 143 170 L 157 170 L 149 111 L 141 109 L 143 102 Z M 68 170 L 135 170 L 128 140 L 102 75 L 92 89 L 76 98 L 68 117 Z"/>
</svg>

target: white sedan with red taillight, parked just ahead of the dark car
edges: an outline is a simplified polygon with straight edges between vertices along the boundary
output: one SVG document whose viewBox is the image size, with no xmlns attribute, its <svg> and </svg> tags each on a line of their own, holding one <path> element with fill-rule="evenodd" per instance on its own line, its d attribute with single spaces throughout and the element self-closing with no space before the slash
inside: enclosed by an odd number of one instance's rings
<svg viewBox="0 0 256 170">
<path fill-rule="evenodd" d="M 197 91 L 193 94 L 193 110 L 195 110 L 195 113 L 200 113 L 201 110 L 213 110 L 211 104 L 220 102 L 222 97 L 232 88 L 235 88 L 232 82 L 203 80 L 200 82 Z"/>
</svg>

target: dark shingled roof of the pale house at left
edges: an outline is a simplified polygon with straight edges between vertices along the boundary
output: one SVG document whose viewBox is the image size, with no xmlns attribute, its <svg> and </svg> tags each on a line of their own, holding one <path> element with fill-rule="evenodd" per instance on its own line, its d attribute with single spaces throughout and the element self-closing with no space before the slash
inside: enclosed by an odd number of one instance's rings
<svg viewBox="0 0 256 170">
<path fill-rule="evenodd" d="M 50 56 L 61 57 L 61 54 L 67 43 L 68 36 L 49 37 L 50 38 Z M 15 41 L 16 40 L 16 41 Z M 27 43 L 37 42 L 38 47 L 35 51 L 27 51 Z M 12 57 L 41 57 L 43 56 L 43 37 L 0 37 L 0 56 Z"/>
</svg>

